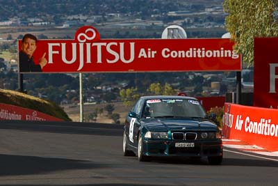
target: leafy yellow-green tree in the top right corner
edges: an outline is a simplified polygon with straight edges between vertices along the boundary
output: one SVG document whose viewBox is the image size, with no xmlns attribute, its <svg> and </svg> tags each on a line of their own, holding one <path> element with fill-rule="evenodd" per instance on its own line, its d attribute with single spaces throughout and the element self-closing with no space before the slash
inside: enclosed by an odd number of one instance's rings
<svg viewBox="0 0 278 186">
<path fill-rule="evenodd" d="M 254 37 L 278 36 L 277 8 L 277 0 L 224 0 L 227 31 L 247 66 L 254 60 Z"/>
</svg>

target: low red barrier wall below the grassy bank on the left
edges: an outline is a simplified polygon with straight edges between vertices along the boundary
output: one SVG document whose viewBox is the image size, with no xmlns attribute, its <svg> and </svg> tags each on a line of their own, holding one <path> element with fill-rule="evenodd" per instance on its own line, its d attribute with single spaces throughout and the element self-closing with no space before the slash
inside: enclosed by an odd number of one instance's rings
<svg viewBox="0 0 278 186">
<path fill-rule="evenodd" d="M 40 111 L 0 103 L 0 120 L 63 121 Z"/>
</svg>

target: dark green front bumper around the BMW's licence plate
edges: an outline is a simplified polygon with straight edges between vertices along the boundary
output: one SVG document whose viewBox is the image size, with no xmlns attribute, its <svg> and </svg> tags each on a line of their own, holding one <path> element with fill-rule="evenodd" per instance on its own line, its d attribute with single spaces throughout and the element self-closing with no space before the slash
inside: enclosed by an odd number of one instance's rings
<svg viewBox="0 0 278 186">
<path fill-rule="evenodd" d="M 143 154 L 156 157 L 213 157 L 222 155 L 222 140 L 172 141 L 143 139 Z M 194 147 L 175 147 L 175 143 L 194 143 Z"/>
</svg>

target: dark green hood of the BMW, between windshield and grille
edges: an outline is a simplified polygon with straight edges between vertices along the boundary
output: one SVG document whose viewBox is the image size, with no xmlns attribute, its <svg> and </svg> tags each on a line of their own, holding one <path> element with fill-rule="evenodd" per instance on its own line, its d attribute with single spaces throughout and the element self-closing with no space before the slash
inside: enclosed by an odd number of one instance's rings
<svg viewBox="0 0 278 186">
<path fill-rule="evenodd" d="M 218 131 L 215 123 L 202 118 L 188 120 L 160 120 L 152 118 L 143 121 L 142 127 L 145 127 L 149 131 Z"/>
</svg>

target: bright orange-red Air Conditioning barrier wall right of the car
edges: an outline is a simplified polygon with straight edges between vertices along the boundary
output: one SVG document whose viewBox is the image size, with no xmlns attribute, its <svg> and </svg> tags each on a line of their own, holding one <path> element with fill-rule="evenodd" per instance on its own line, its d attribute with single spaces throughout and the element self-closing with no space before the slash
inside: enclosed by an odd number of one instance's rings
<svg viewBox="0 0 278 186">
<path fill-rule="evenodd" d="M 278 109 L 224 104 L 222 133 L 268 150 L 278 150 Z"/>
</svg>

